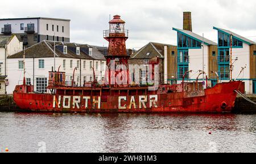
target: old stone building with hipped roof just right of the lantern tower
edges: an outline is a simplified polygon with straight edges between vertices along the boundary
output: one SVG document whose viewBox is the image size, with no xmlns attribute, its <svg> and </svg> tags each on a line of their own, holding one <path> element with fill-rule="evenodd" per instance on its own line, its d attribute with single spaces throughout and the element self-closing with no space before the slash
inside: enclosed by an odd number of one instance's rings
<svg viewBox="0 0 256 164">
<path fill-rule="evenodd" d="M 147 66 L 150 59 L 159 58 L 159 82 L 160 84 L 174 83 L 176 79 L 176 54 L 177 46 L 149 42 L 141 49 L 131 54 L 129 63 Z M 147 70 L 139 70 L 139 81 L 145 81 L 149 75 L 146 75 Z M 133 70 L 130 70 L 133 74 Z M 132 76 L 133 77 L 133 76 Z M 132 79 L 134 80 L 134 79 Z"/>
</svg>

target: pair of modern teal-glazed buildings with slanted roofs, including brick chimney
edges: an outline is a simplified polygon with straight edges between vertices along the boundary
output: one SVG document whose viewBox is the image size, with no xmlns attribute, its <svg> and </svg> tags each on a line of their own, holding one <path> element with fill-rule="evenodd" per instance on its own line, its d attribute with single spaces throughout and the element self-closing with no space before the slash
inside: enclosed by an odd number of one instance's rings
<svg viewBox="0 0 256 164">
<path fill-rule="evenodd" d="M 172 29 L 177 32 L 177 83 L 181 83 L 184 73 L 189 70 L 192 72 L 184 78 L 187 81 L 196 80 L 199 70 L 204 71 L 208 76 L 208 85 L 211 87 L 229 81 L 232 53 L 232 80 L 242 80 L 245 93 L 255 94 L 256 43 L 254 41 L 217 27 L 213 29 L 218 31 L 218 43 L 210 41 L 192 32 L 191 12 L 183 13 L 183 29 Z M 230 44 L 231 40 L 232 44 Z M 203 75 L 199 76 L 199 81 L 206 80 L 206 76 Z"/>
</svg>

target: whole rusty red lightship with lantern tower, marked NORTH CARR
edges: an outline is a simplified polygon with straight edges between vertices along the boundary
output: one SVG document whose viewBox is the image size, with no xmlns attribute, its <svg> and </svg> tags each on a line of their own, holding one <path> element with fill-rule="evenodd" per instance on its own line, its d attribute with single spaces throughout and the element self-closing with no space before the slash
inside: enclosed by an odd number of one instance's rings
<svg viewBox="0 0 256 164">
<path fill-rule="evenodd" d="M 104 38 L 109 41 L 104 80 L 108 83 L 97 85 L 94 79 L 85 87 L 66 86 L 65 72 L 49 72 L 49 93 L 34 93 L 34 86 L 26 83 L 17 85 L 13 93 L 16 105 L 26 111 L 78 113 L 223 113 L 232 110 L 237 96 L 234 90 L 240 89 L 242 81 L 220 83 L 207 89 L 197 81 L 154 87 L 131 85 L 125 21 L 115 15 L 109 24 L 109 30 L 104 31 Z M 154 80 L 159 59 L 153 58 L 149 63 L 153 70 L 150 79 Z M 124 67 L 117 69 L 120 64 Z M 118 78 L 123 83 L 118 83 Z"/>
</svg>

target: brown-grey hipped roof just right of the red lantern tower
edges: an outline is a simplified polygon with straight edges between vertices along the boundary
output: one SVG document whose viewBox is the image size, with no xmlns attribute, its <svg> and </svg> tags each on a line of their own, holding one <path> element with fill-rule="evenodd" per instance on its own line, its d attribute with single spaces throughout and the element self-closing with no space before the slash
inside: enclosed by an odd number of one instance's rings
<svg viewBox="0 0 256 164">
<path fill-rule="evenodd" d="M 174 45 L 149 42 L 147 45 L 143 46 L 143 48 L 133 53 L 131 55 L 131 59 L 151 59 L 155 57 L 164 58 L 164 46 Z"/>
</svg>

